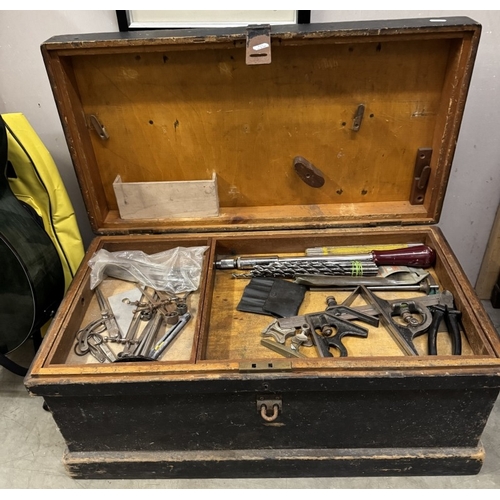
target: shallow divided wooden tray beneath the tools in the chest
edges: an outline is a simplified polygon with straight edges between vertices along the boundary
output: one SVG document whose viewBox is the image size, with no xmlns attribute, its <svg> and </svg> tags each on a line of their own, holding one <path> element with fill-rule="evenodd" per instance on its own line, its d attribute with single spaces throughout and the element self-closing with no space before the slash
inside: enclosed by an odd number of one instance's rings
<svg viewBox="0 0 500 500">
<path fill-rule="evenodd" d="M 355 358 L 363 358 L 357 360 L 363 366 L 365 364 L 383 363 L 383 360 L 392 362 L 392 357 L 401 358 L 397 360 L 398 366 L 402 367 L 408 363 L 411 366 L 424 366 L 429 363 L 429 366 L 434 364 L 434 360 L 443 358 L 445 361 L 443 366 L 449 370 L 452 367 L 460 369 L 462 364 L 466 366 L 474 366 L 475 363 L 481 364 L 497 364 L 496 357 L 498 347 L 500 345 L 495 330 L 491 323 L 486 320 L 487 316 L 477 300 L 473 289 L 464 280 L 461 274 L 460 267 L 454 260 L 453 254 L 444 240 L 441 232 L 434 227 L 425 228 L 407 228 L 398 230 L 380 230 L 380 229 L 365 229 L 360 234 L 357 230 L 342 229 L 342 230 L 324 230 L 320 234 L 318 232 L 297 231 L 292 233 L 276 235 L 275 233 L 241 233 L 238 235 L 226 234 L 207 234 L 203 237 L 189 235 L 180 239 L 180 236 L 163 236 L 149 235 L 140 237 L 129 236 L 109 236 L 98 237 L 92 244 L 92 251 L 89 251 L 86 260 L 94 255 L 100 249 L 105 249 L 109 252 L 123 252 L 124 250 L 135 250 L 140 248 L 146 253 L 157 253 L 176 247 L 208 247 L 204 256 L 203 274 L 199 289 L 187 299 L 188 309 L 193 313 L 194 321 L 190 324 L 188 331 L 183 332 L 179 337 L 182 339 L 175 352 L 167 352 L 166 357 L 161 360 L 164 363 L 153 363 L 149 366 L 148 363 L 141 364 L 141 371 L 148 366 L 148 370 L 153 372 L 160 370 L 161 372 L 177 372 L 181 369 L 180 365 L 193 364 L 196 365 L 196 370 L 202 369 L 207 372 L 217 372 L 221 369 L 219 363 L 224 364 L 223 371 L 242 371 L 245 370 L 245 361 L 254 361 L 261 359 L 280 359 L 282 356 L 277 356 L 276 353 L 265 348 L 260 344 L 262 331 L 266 326 L 276 320 L 276 316 L 272 314 L 253 314 L 245 311 L 238 311 L 238 304 L 241 301 L 245 288 L 250 283 L 251 278 L 238 276 L 246 276 L 244 271 L 216 269 L 214 262 L 217 256 L 221 255 L 274 255 L 278 253 L 281 256 L 302 256 L 304 249 L 308 248 L 311 243 L 314 246 L 327 247 L 338 246 L 364 246 L 368 245 L 367 241 L 373 241 L 373 247 L 377 248 L 381 245 L 406 245 L 408 243 L 422 243 L 430 246 L 437 253 L 436 262 L 431 269 L 426 269 L 432 276 L 436 285 L 435 295 L 440 294 L 440 291 L 448 291 L 453 295 L 455 308 L 463 312 L 462 321 L 462 355 L 452 356 L 450 339 L 447 335 L 439 336 L 440 349 L 437 358 L 430 358 L 426 344 L 426 336 L 416 336 L 414 341 L 417 347 L 418 356 L 407 356 L 404 351 L 398 346 L 398 343 L 391 338 L 387 329 L 382 325 L 365 326 L 369 329 L 369 335 L 363 339 L 346 339 L 346 346 L 349 346 L 348 359 L 340 359 L 339 353 L 336 352 L 335 359 L 319 358 L 313 348 L 304 349 L 307 354 L 304 358 L 288 359 L 286 365 L 289 368 L 297 367 L 297 369 L 305 370 L 312 364 L 314 368 L 321 369 L 338 369 L 343 362 L 348 365 Z M 266 251 L 267 250 L 267 251 Z M 274 250 L 274 252 L 271 252 Z M 54 373 L 64 373 L 69 368 L 69 365 L 78 367 L 77 371 L 89 373 L 95 371 L 95 359 L 91 356 L 77 356 L 74 353 L 75 334 L 80 331 L 85 325 L 92 320 L 100 317 L 100 310 L 95 296 L 95 291 L 90 287 L 91 269 L 82 265 L 80 269 L 79 291 L 71 293 L 73 300 L 68 304 L 66 314 L 59 313 L 54 328 L 60 328 L 64 335 L 56 335 L 53 337 L 53 345 L 48 353 L 47 360 L 42 367 L 54 370 Z M 360 283 L 363 282 L 359 278 Z M 292 280 L 288 280 L 292 281 Z M 105 289 L 105 295 L 109 298 L 116 294 L 122 294 L 127 291 L 132 291 L 136 288 L 133 282 L 122 281 L 120 279 L 105 278 L 101 288 Z M 349 290 L 345 288 L 310 288 L 304 299 L 300 303 L 300 314 L 310 314 L 324 311 L 327 308 L 327 298 L 334 296 L 337 303 L 340 305 L 351 295 L 355 287 Z M 422 297 L 431 297 L 434 294 L 428 295 L 420 291 L 374 291 L 377 296 L 386 300 L 395 299 L 414 299 Z M 66 301 L 70 299 L 67 298 Z M 429 301 L 428 301 L 429 302 Z M 437 302 L 436 302 L 437 303 Z M 359 297 L 352 304 L 353 307 L 366 305 L 367 299 L 359 294 Z M 431 302 L 429 302 L 431 304 Z M 134 309 L 133 306 L 129 306 Z M 340 313 L 339 313 L 340 314 Z M 372 313 L 374 315 L 374 313 Z M 484 317 L 483 317 L 484 315 Z M 360 318 L 358 321 L 362 322 Z M 443 330 L 441 330 L 443 331 Z M 372 338 L 373 337 L 373 338 Z M 176 343 L 177 344 L 177 343 Z M 175 344 L 174 344 L 175 345 Z M 123 350 L 123 346 L 115 346 L 117 352 Z M 369 359 L 375 357 L 376 359 Z M 382 358 L 382 359 L 378 359 Z M 417 360 L 418 358 L 418 360 Z M 228 364 L 228 362 L 230 364 Z M 91 366 L 87 366 L 91 365 Z M 242 366 L 243 365 L 243 366 Z M 439 366 L 439 363 L 438 363 Z M 100 365 L 99 369 L 102 373 L 128 373 L 132 372 L 137 367 L 133 363 L 130 364 L 104 364 Z M 191 369 L 183 366 L 182 369 Z M 193 366 L 192 369 L 195 369 Z M 279 368 L 278 368 L 279 370 Z M 249 369 L 251 372 L 252 370 Z M 256 368 L 255 372 L 266 372 L 264 368 Z M 271 370 L 272 371 L 272 370 Z M 50 373 L 50 370 L 49 372 Z"/>
</svg>

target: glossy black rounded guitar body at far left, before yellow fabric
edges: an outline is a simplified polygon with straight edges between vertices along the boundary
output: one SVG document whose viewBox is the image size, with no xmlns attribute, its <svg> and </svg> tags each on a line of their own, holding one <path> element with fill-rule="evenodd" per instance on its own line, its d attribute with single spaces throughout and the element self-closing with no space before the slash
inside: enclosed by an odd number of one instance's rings
<svg viewBox="0 0 500 500">
<path fill-rule="evenodd" d="M 0 365 L 25 375 L 27 369 L 6 357 L 54 315 L 65 291 L 64 271 L 43 221 L 13 194 L 8 177 L 8 140 L 0 117 Z"/>
</svg>

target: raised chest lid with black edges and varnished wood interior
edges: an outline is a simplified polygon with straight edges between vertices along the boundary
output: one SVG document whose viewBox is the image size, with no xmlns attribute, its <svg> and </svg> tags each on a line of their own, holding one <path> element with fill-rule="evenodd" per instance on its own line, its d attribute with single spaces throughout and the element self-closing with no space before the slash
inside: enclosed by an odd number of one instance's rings
<svg viewBox="0 0 500 500">
<path fill-rule="evenodd" d="M 54 37 L 96 233 L 439 220 L 480 36 L 463 17 Z"/>
</svg>

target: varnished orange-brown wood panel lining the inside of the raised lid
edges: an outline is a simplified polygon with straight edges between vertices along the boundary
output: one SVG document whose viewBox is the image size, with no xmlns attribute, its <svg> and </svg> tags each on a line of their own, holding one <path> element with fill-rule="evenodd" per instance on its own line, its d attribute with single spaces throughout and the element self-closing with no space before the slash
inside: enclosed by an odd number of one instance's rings
<svg viewBox="0 0 500 500">
<path fill-rule="evenodd" d="M 449 50 L 442 40 L 277 47 L 262 67 L 244 65 L 237 49 L 166 50 L 81 57 L 74 69 L 85 114 L 110 135 L 91 138 L 111 208 L 117 174 L 173 181 L 213 170 L 223 207 L 363 203 L 409 198 Z M 355 133 L 359 103 L 366 117 Z M 297 155 L 325 173 L 324 189 L 300 181 Z"/>
</svg>

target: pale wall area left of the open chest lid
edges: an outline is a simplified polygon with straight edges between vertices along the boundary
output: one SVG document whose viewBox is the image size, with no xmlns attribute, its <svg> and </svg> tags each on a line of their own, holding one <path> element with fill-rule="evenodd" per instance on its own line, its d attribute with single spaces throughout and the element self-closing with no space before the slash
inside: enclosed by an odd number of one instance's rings
<svg viewBox="0 0 500 500">
<path fill-rule="evenodd" d="M 23 113 L 52 155 L 73 203 L 85 246 L 93 238 L 50 88 L 40 45 L 54 35 L 118 31 L 114 10 L 0 13 L 0 113 Z"/>
</svg>

